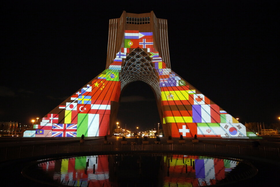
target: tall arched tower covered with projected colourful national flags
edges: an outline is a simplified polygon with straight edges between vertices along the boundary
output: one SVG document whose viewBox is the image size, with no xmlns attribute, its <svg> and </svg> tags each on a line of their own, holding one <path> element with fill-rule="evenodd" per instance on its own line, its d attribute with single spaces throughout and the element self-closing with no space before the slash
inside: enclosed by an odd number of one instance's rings
<svg viewBox="0 0 280 187">
<path fill-rule="evenodd" d="M 156 18 L 154 12 L 125 11 L 109 21 L 106 69 L 23 136 L 110 136 L 120 93 L 134 81 L 143 81 L 154 91 L 165 136 L 256 136 L 171 70 L 166 19 Z"/>
</svg>

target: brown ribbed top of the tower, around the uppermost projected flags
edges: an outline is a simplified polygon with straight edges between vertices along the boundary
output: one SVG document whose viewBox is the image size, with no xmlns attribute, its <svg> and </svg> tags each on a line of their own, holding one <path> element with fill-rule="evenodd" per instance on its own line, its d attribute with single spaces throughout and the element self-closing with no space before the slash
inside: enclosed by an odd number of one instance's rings
<svg viewBox="0 0 280 187">
<path fill-rule="evenodd" d="M 159 52 L 167 68 L 170 68 L 167 20 L 156 18 L 153 11 L 144 14 L 132 14 L 124 11 L 120 18 L 110 19 L 106 68 L 109 68 L 116 53 L 125 46 L 125 30 L 152 32 L 154 49 Z"/>
</svg>

